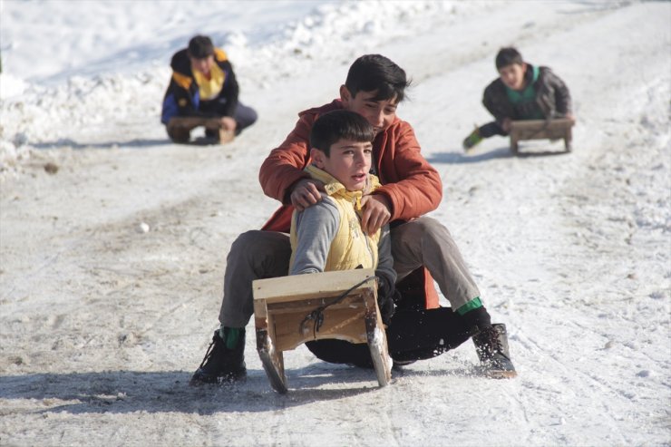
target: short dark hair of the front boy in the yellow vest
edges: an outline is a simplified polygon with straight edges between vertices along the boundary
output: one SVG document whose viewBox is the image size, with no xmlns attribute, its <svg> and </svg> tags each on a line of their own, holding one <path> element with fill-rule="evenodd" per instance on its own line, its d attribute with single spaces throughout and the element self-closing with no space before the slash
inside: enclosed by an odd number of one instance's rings
<svg viewBox="0 0 671 447">
<path fill-rule="evenodd" d="M 370 122 L 356 112 L 337 110 L 316 119 L 310 132 L 310 146 L 331 156 L 331 146 L 340 140 L 373 141 L 375 131 Z"/>
</svg>

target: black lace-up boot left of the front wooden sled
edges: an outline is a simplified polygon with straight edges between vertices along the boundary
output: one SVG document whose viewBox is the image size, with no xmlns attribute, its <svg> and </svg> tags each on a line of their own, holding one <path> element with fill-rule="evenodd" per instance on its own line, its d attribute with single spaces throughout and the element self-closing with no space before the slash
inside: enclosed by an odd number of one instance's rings
<svg viewBox="0 0 671 447">
<path fill-rule="evenodd" d="M 212 343 L 198 370 L 191 377 L 190 385 L 235 382 L 247 375 L 245 365 L 245 329 L 239 329 L 238 343 L 229 349 L 226 342 L 214 331 Z"/>
</svg>

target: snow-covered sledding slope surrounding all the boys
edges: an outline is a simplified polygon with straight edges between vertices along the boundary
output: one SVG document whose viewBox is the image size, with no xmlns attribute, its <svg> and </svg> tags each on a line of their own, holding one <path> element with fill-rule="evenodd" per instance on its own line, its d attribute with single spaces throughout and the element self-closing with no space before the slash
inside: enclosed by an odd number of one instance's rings
<svg viewBox="0 0 671 447">
<path fill-rule="evenodd" d="M 670 3 L 5 0 L 0 21 L 0 444 L 671 444 Z M 196 33 L 259 112 L 227 146 L 159 122 Z M 462 153 L 507 44 L 569 84 L 572 153 Z M 300 347 L 281 396 L 250 325 L 247 382 L 189 387 L 229 246 L 277 206 L 260 163 L 363 53 L 413 77 L 399 115 L 442 173 L 432 215 L 519 377 L 472 374 L 469 342 L 378 389 Z"/>
</svg>

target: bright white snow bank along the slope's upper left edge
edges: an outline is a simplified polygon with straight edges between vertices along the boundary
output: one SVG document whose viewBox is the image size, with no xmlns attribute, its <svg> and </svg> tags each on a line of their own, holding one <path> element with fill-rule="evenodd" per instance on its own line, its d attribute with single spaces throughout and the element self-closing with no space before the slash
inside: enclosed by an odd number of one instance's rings
<svg viewBox="0 0 671 447">
<path fill-rule="evenodd" d="M 0 180 L 20 170 L 36 149 L 77 147 L 81 143 L 76 141 L 90 141 L 102 128 L 148 115 L 156 116 L 159 126 L 170 56 L 197 32 L 210 34 L 229 53 L 245 91 L 404 39 L 422 28 L 417 17 L 466 14 L 488 4 L 295 0 L 212 5 L 134 2 L 125 5 L 127 15 L 119 15 L 111 3 L 82 2 L 76 19 L 63 14 L 68 2 L 6 5 Z M 306 11 L 306 5 L 312 8 Z M 29 22 L 57 38 L 31 39 L 21 26 Z M 196 23 L 205 25 L 186 31 Z M 219 31 L 222 27 L 229 31 Z"/>
</svg>

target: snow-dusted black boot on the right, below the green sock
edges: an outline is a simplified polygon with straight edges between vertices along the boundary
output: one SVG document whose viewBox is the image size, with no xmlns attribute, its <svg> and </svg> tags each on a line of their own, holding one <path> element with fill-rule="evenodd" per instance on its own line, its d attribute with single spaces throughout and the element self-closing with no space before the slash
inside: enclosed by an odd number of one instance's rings
<svg viewBox="0 0 671 447">
<path fill-rule="evenodd" d="M 517 376 L 511 362 L 505 325 L 499 323 L 482 329 L 478 335 L 473 336 L 473 343 L 484 374 L 494 379 Z"/>
</svg>

